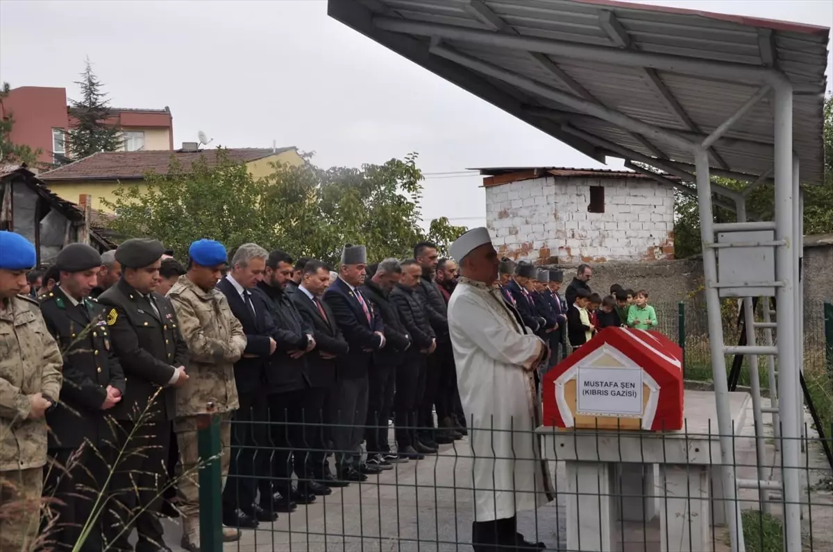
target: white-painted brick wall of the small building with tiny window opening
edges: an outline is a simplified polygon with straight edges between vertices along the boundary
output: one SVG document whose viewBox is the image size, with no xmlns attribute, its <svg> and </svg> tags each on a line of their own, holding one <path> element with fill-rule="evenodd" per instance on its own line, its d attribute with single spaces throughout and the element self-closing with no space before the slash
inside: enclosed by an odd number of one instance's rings
<svg viewBox="0 0 833 552">
<path fill-rule="evenodd" d="M 590 212 L 591 186 L 604 212 Z M 486 224 L 501 255 L 545 263 L 674 258 L 674 193 L 636 178 L 541 177 L 486 187 Z"/>
</svg>

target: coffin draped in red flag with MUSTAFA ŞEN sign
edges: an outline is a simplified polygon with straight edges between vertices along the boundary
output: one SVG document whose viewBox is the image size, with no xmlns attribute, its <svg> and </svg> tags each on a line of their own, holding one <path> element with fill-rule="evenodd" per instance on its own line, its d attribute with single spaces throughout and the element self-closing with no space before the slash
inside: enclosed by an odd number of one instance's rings
<svg viewBox="0 0 833 552">
<path fill-rule="evenodd" d="M 658 331 L 605 328 L 541 385 L 544 425 L 682 429 L 682 349 Z"/>
</svg>

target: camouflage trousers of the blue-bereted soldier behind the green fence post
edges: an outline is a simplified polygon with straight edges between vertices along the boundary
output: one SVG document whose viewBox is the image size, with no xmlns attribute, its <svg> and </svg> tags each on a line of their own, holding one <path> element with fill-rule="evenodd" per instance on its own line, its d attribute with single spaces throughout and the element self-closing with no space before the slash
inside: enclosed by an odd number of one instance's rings
<svg viewBox="0 0 833 552">
<path fill-rule="evenodd" d="M 228 475 L 228 463 L 232 457 L 230 449 L 232 440 L 232 426 L 229 421 L 231 412 L 220 414 L 220 470 L 225 482 Z M 197 448 L 197 416 L 177 418 L 173 422 L 173 430 L 177 434 L 179 445 L 179 462 L 177 463 L 177 508 L 182 513 L 183 520 L 196 521 L 200 511 L 199 497 L 199 449 Z M 222 491 L 222 489 L 221 489 Z"/>
</svg>

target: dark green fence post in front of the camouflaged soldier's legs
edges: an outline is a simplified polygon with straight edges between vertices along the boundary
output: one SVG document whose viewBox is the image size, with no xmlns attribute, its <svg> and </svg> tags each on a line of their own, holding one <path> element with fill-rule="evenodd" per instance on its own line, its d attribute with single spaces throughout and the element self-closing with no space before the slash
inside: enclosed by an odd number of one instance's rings
<svg viewBox="0 0 833 552">
<path fill-rule="evenodd" d="M 220 416 L 199 416 L 197 450 L 200 455 L 200 552 L 222 552 Z"/>
</svg>

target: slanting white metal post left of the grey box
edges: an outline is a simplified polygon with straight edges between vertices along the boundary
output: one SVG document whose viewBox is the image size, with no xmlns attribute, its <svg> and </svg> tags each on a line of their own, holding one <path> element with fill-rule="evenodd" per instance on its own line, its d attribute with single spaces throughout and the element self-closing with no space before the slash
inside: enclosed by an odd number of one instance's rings
<svg viewBox="0 0 833 552">
<path fill-rule="evenodd" d="M 729 384 L 726 380 L 726 356 L 723 352 L 723 323 L 721 298 L 718 295 L 717 255 L 711 247 L 715 242 L 714 218 L 711 210 L 711 177 L 709 157 L 705 150 L 696 154 L 697 206 L 700 211 L 700 236 L 703 242 L 703 275 L 706 277 L 706 316 L 709 321 L 711 348 L 711 373 L 715 380 L 717 425 L 721 436 L 721 475 L 726 519 L 729 522 L 731 552 L 742 552 L 743 533 L 739 524 L 740 505 L 737 502 L 735 470 L 732 447 L 731 412 L 729 411 Z"/>
</svg>

